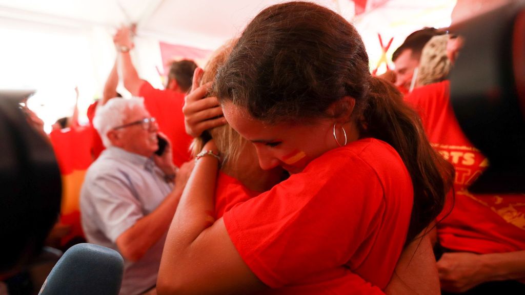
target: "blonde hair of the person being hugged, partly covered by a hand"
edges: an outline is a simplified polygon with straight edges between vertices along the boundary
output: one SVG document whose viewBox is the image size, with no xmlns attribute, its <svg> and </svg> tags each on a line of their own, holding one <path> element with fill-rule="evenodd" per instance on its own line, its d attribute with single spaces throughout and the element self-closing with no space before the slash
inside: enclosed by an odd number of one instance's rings
<svg viewBox="0 0 525 295">
<path fill-rule="evenodd" d="M 214 81 L 215 74 L 220 66 L 226 62 L 229 57 L 232 48 L 236 43 L 236 39 L 228 41 L 223 46 L 215 50 L 212 57 L 209 59 L 206 67 L 204 67 L 204 73 L 199 86 L 202 86 L 208 82 Z M 210 88 L 213 89 L 213 88 Z M 209 96 L 215 96 L 214 92 L 209 93 Z M 239 159 L 241 151 L 244 150 L 248 141 L 243 138 L 237 131 L 235 131 L 230 125 L 222 125 L 212 129 L 208 129 L 201 136 L 195 138 L 192 143 L 192 154 L 195 156 L 204 147 L 204 144 L 210 139 L 215 140 L 215 145 L 223 158 L 222 168 L 229 170 L 236 166 L 236 162 Z"/>
</svg>

